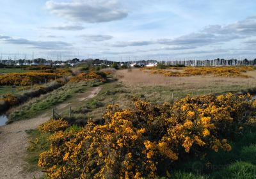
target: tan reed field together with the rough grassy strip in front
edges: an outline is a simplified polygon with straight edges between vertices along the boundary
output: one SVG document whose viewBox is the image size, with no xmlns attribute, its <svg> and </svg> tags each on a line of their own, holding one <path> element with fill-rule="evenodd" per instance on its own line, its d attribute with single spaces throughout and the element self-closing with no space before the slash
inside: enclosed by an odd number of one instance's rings
<svg viewBox="0 0 256 179">
<path fill-rule="evenodd" d="M 243 77 L 166 77 L 160 74 L 142 72 L 138 68 L 116 70 L 114 77 L 122 82 L 125 89 L 133 94 L 141 95 L 149 101 L 170 101 L 172 93 L 174 98 L 182 98 L 188 94 L 195 95 L 209 93 L 237 92 L 256 86 L 256 70 L 245 72 L 250 78 Z"/>
</svg>

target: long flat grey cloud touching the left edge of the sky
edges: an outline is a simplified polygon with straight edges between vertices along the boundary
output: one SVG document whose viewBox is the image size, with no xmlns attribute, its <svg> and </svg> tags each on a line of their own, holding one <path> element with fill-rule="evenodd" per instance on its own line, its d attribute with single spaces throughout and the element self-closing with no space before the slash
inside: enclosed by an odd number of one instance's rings
<svg viewBox="0 0 256 179">
<path fill-rule="evenodd" d="M 65 49 L 72 46 L 70 43 L 61 41 L 32 41 L 25 38 L 12 38 L 11 36 L 0 36 L 0 40 L 15 45 L 29 45 L 35 49 L 42 50 Z"/>
</svg>

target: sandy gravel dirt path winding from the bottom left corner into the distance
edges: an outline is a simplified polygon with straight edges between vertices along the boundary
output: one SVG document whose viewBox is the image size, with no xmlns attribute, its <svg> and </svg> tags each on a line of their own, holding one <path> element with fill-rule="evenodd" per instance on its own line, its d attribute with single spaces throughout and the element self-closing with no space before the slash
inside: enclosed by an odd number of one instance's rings
<svg viewBox="0 0 256 179">
<path fill-rule="evenodd" d="M 96 97 L 101 88 L 96 87 L 90 91 L 86 97 L 77 97 L 78 101 L 86 101 Z M 66 106 L 67 103 L 60 104 L 60 107 Z M 38 178 L 42 175 L 40 171 L 27 173 L 24 170 L 26 162 L 26 148 L 28 147 L 28 134 L 26 130 L 35 129 L 38 125 L 51 118 L 51 112 L 32 118 L 30 120 L 16 121 L 10 125 L 0 127 L 0 178 L 1 179 L 31 179 L 33 176 Z"/>
</svg>

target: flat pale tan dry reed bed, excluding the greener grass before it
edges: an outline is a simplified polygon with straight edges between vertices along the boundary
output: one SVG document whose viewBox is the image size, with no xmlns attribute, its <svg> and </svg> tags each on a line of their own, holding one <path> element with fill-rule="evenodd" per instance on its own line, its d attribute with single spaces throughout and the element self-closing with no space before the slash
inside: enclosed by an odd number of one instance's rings
<svg viewBox="0 0 256 179">
<path fill-rule="evenodd" d="M 252 76 L 244 79 L 242 77 L 213 77 L 213 76 L 191 76 L 191 77 L 164 77 L 159 74 L 148 74 L 141 72 L 139 69 L 118 70 L 115 77 L 119 81 L 124 82 L 129 86 L 168 86 L 176 88 L 198 89 L 198 88 L 214 88 L 216 86 L 255 86 L 256 71 L 244 73 Z"/>
</svg>

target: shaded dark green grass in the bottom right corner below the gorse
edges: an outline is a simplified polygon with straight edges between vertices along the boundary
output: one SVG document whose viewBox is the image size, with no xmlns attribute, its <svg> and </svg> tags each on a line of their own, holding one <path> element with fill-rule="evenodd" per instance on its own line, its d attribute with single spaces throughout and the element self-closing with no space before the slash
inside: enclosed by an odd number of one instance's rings
<svg viewBox="0 0 256 179">
<path fill-rule="evenodd" d="M 237 137 L 230 152 L 205 151 L 206 157 L 188 157 L 175 164 L 173 178 L 256 178 L 256 132 Z"/>
</svg>

